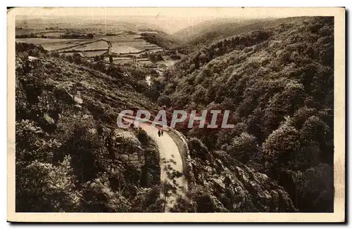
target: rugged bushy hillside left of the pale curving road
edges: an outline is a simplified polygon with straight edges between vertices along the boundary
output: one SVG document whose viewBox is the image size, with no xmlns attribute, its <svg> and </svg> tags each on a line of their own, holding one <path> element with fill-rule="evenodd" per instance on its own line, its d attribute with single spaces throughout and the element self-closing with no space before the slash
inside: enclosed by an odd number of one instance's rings
<svg viewBox="0 0 352 229">
<path fill-rule="evenodd" d="M 15 48 L 16 211 L 162 211 L 156 144 L 116 124 L 122 110 L 158 110 L 139 93 L 144 74 Z"/>
</svg>

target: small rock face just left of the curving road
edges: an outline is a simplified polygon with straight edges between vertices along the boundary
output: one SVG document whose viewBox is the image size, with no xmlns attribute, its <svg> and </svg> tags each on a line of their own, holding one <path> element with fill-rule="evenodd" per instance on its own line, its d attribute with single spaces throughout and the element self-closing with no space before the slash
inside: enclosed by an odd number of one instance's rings
<svg viewBox="0 0 352 229">
<path fill-rule="evenodd" d="M 115 129 L 108 140 L 108 148 L 111 154 L 123 163 L 144 166 L 144 154 L 141 143 L 132 131 Z"/>
</svg>

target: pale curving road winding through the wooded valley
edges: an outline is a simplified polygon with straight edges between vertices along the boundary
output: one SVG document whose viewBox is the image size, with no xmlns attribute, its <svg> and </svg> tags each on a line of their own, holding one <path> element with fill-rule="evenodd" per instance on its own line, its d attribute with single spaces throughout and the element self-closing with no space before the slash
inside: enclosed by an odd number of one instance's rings
<svg viewBox="0 0 352 229">
<path fill-rule="evenodd" d="M 122 117 L 126 122 L 134 122 L 134 119 Z M 162 191 L 161 197 L 165 199 L 164 211 L 168 212 L 174 206 L 177 197 L 184 196 L 187 190 L 187 180 L 184 176 L 182 157 L 177 144 L 168 134 L 169 128 L 164 128 L 163 136 L 158 136 L 158 128 L 149 123 L 139 123 L 146 133 L 156 141 L 160 153 L 161 183 L 169 188 Z M 173 135 L 175 137 L 175 134 Z"/>
</svg>

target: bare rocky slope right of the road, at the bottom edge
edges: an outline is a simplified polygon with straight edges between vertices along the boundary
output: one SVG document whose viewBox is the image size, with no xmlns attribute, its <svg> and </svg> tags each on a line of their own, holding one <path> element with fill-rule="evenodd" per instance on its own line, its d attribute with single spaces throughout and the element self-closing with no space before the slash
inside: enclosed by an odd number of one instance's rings
<svg viewBox="0 0 352 229">
<path fill-rule="evenodd" d="M 207 205 L 213 206 L 210 209 L 231 212 L 296 211 L 284 188 L 265 174 L 249 169 L 241 162 L 234 163 L 234 166 L 225 166 L 220 159 L 214 160 L 214 163 L 192 159 L 196 184 L 210 195 L 211 202 Z"/>
</svg>

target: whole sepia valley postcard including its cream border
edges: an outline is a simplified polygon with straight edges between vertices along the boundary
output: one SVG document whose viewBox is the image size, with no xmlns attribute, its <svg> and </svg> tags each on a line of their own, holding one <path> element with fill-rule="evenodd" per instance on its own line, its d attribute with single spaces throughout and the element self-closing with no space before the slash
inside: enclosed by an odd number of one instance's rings
<svg viewBox="0 0 352 229">
<path fill-rule="evenodd" d="M 8 8 L 8 221 L 344 221 L 344 31 L 344 8 Z"/>
</svg>

